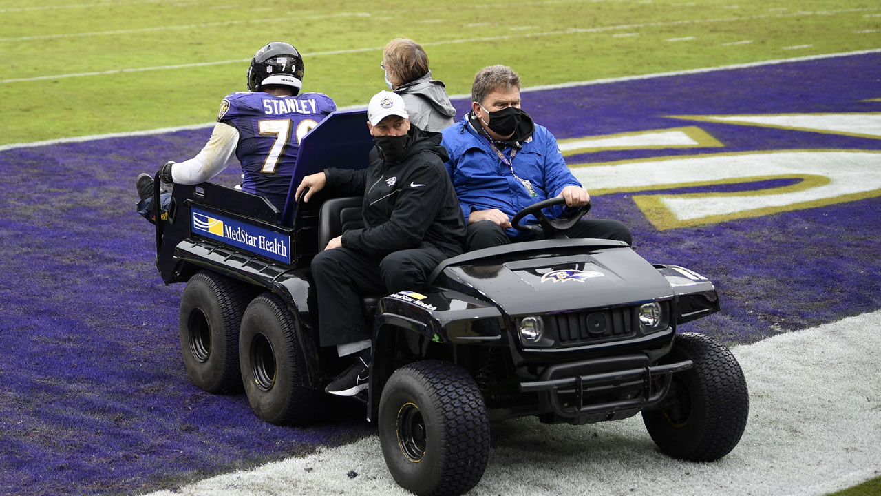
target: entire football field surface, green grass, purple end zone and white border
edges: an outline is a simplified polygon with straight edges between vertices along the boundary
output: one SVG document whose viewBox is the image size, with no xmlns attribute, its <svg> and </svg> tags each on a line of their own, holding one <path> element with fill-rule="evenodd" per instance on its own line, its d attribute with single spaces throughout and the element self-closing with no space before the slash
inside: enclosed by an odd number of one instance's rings
<svg viewBox="0 0 881 496">
<path fill-rule="evenodd" d="M 404 493 L 359 408 L 279 427 L 189 383 L 182 286 L 134 212 L 137 173 L 198 152 L 265 42 L 352 107 L 395 36 L 457 118 L 479 68 L 519 71 L 591 215 L 714 281 L 722 312 L 683 330 L 732 347 L 750 387 L 720 462 L 664 457 L 639 417 L 524 419 L 492 426 L 474 494 L 878 490 L 881 6 L 0 0 L 0 26 L 0 494 Z"/>
</svg>

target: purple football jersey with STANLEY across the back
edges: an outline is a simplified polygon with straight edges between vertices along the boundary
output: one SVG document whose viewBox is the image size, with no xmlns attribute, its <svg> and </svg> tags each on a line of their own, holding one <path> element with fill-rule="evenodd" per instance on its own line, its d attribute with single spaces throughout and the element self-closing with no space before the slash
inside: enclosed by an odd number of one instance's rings
<svg viewBox="0 0 881 496">
<path fill-rule="evenodd" d="M 278 209 L 284 208 L 300 141 L 336 109 L 337 104 L 321 93 L 227 94 L 220 102 L 218 122 L 239 131 L 235 155 L 245 173 L 241 189 L 263 195 Z"/>
</svg>

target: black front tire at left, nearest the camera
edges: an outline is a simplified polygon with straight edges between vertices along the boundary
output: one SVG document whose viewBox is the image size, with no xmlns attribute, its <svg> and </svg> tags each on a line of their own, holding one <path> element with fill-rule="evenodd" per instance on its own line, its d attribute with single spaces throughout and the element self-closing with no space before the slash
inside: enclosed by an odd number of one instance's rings
<svg viewBox="0 0 881 496">
<path fill-rule="evenodd" d="M 484 475 L 489 416 L 478 385 L 456 364 L 426 360 L 392 374 L 379 433 L 391 475 L 419 496 L 462 494 Z"/>
</svg>

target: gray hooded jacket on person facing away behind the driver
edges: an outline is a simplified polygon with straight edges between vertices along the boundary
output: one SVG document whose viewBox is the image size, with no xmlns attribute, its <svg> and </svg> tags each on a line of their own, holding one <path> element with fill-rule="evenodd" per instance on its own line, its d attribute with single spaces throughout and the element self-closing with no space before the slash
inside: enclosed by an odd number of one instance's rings
<svg viewBox="0 0 881 496">
<path fill-rule="evenodd" d="M 441 132 L 455 122 L 455 109 L 449 102 L 447 86 L 442 81 L 432 79 L 432 71 L 398 86 L 395 93 L 403 98 L 407 114 L 410 115 L 410 124 L 422 131 Z"/>
</svg>

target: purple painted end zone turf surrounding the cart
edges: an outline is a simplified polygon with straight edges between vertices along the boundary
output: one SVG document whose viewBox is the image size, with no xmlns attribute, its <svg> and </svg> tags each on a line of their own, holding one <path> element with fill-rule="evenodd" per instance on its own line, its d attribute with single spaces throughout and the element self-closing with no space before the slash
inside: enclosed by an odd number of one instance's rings
<svg viewBox="0 0 881 496">
<path fill-rule="evenodd" d="M 877 139 L 665 116 L 877 112 L 881 103 L 861 100 L 881 96 L 879 71 L 881 56 L 848 56 L 529 92 L 523 108 L 559 139 L 699 125 L 725 144 L 581 154 L 572 163 L 877 150 Z M 462 116 L 468 102 L 455 104 Z M 326 424 L 278 427 L 257 419 L 243 395 L 208 395 L 189 383 L 177 332 L 182 286 L 159 280 L 152 226 L 134 212 L 134 177 L 196 154 L 209 134 L 0 152 L 0 493 L 142 492 L 371 431 L 348 403 L 353 413 Z M 234 184 L 239 173 L 218 180 Z M 772 184 L 781 185 L 764 185 Z M 649 261 L 716 282 L 722 312 L 689 330 L 754 342 L 881 307 L 877 198 L 662 232 L 629 194 L 594 203 L 592 215 L 633 229 L 634 247 Z"/>
</svg>

